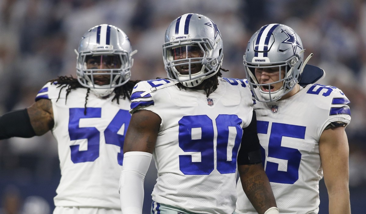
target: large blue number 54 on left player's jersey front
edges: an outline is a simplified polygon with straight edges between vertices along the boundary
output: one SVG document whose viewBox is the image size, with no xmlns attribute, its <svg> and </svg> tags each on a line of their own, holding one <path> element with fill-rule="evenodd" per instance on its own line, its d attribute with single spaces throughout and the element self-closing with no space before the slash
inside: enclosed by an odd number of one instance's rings
<svg viewBox="0 0 366 214">
<path fill-rule="evenodd" d="M 70 140 L 87 139 L 87 150 L 79 151 L 79 145 L 71 145 L 71 161 L 73 163 L 92 162 L 99 157 L 100 132 L 95 127 L 79 127 L 82 118 L 100 118 L 101 108 L 87 108 L 84 115 L 84 108 L 70 108 L 70 119 L 68 132 Z M 106 144 L 113 144 L 120 147 L 117 155 L 117 162 L 122 166 L 124 135 L 117 134 L 124 125 L 124 133 L 127 131 L 131 115 L 128 111 L 120 109 L 116 116 L 104 130 Z"/>
</svg>

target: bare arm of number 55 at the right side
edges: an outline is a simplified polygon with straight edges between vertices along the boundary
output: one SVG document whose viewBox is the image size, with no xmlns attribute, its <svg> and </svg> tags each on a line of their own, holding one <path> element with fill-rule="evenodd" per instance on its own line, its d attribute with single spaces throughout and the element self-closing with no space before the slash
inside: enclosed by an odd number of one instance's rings
<svg viewBox="0 0 366 214">
<path fill-rule="evenodd" d="M 328 190 L 329 214 L 350 214 L 349 148 L 343 126 L 323 131 L 319 141 L 319 152 Z"/>
</svg>

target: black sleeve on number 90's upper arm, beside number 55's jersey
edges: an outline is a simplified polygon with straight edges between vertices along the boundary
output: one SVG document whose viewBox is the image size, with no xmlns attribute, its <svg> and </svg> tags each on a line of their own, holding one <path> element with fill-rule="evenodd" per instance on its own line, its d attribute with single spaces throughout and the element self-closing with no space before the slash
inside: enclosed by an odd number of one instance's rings
<svg viewBox="0 0 366 214">
<path fill-rule="evenodd" d="M 261 145 L 257 133 L 257 117 L 253 111 L 253 117 L 248 127 L 243 128 L 242 145 L 237 159 L 238 165 L 261 163 Z"/>
</svg>

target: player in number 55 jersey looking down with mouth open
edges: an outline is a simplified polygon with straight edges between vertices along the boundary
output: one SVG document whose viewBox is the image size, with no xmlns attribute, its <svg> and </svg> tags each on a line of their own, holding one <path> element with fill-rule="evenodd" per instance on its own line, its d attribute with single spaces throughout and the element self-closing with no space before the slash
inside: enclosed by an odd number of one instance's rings
<svg viewBox="0 0 366 214">
<path fill-rule="evenodd" d="M 350 101 L 333 86 L 301 87 L 309 76 L 306 72 L 315 67 L 305 65 L 307 60 L 299 36 L 285 25 L 265 25 L 248 43 L 244 66 L 260 101 L 254 109 L 262 161 L 280 213 L 318 213 L 319 181 L 324 174 L 329 213 L 350 214 L 344 130 L 351 119 Z M 240 182 L 237 191 L 236 212 L 256 213 Z"/>
</svg>

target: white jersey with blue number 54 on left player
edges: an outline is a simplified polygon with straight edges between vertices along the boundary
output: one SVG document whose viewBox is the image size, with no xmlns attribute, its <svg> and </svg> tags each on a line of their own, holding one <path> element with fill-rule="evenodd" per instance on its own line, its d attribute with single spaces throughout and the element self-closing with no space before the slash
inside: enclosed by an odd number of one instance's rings
<svg viewBox="0 0 366 214">
<path fill-rule="evenodd" d="M 36 97 L 52 102 L 61 168 L 55 205 L 121 209 L 119 175 L 130 100 L 117 104 L 114 93 L 107 99 L 89 93 L 84 114 L 87 89 L 73 89 L 66 99 L 67 87 L 61 88 L 47 83 Z"/>
</svg>

